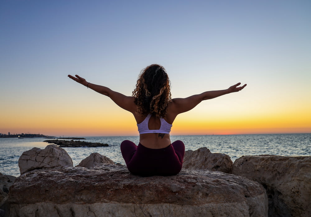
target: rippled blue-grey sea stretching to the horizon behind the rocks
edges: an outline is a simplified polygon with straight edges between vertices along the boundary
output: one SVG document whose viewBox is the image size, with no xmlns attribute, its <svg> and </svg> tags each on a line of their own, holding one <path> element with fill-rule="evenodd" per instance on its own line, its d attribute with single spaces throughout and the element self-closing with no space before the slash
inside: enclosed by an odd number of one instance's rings
<svg viewBox="0 0 311 217">
<path fill-rule="evenodd" d="M 207 147 L 212 153 L 224 153 L 231 160 L 243 155 L 281 155 L 281 156 L 311 156 L 311 133 L 303 134 L 253 134 L 253 135 L 195 135 L 195 136 L 170 136 L 171 141 L 181 140 L 186 150 L 197 150 Z M 83 137 L 87 142 L 107 143 L 108 147 L 67 147 L 73 161 L 73 166 L 91 153 L 99 153 L 115 163 L 125 164 L 120 143 L 131 140 L 138 144 L 139 136 L 97 136 Z M 62 139 L 62 138 L 58 138 Z M 47 138 L 0 138 L 0 173 L 20 176 L 18 159 L 24 151 L 33 147 L 44 149 Z M 81 140 L 82 141 L 82 140 Z"/>
</svg>

